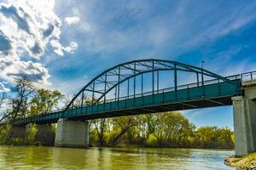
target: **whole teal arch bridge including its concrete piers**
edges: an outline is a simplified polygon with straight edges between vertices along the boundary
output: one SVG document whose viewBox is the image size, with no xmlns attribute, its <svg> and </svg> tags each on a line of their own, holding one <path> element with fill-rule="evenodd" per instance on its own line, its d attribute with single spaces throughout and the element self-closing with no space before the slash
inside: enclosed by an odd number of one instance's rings
<svg viewBox="0 0 256 170">
<path fill-rule="evenodd" d="M 235 150 L 242 156 L 256 150 L 255 75 L 222 77 L 176 61 L 132 60 L 93 78 L 65 109 L 20 117 L 15 125 L 57 122 L 55 146 L 84 147 L 89 144 L 87 120 L 233 105 Z"/>
</svg>

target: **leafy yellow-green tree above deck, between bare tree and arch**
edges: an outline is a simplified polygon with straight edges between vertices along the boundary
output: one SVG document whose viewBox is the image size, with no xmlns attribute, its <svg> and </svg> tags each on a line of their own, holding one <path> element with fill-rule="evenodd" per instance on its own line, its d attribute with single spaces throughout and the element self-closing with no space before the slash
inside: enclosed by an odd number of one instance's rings
<svg viewBox="0 0 256 170">
<path fill-rule="evenodd" d="M 37 94 L 31 100 L 30 115 L 52 111 L 62 98 L 63 95 L 58 90 L 38 89 Z"/>
</svg>

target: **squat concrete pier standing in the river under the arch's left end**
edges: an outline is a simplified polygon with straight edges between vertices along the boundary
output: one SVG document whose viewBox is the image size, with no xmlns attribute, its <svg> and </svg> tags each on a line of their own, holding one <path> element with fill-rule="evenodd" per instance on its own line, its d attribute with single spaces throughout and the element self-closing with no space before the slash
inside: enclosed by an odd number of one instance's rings
<svg viewBox="0 0 256 170">
<path fill-rule="evenodd" d="M 57 122 L 55 146 L 84 148 L 89 146 L 89 123 L 60 119 Z"/>
</svg>

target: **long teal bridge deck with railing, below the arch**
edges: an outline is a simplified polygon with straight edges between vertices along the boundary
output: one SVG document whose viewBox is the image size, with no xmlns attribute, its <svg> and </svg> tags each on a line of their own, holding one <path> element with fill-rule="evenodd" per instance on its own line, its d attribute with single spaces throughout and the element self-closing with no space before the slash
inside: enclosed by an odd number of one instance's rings
<svg viewBox="0 0 256 170">
<path fill-rule="evenodd" d="M 16 120 L 16 124 L 29 122 L 51 123 L 59 118 L 89 120 L 112 116 L 129 116 L 160 111 L 181 111 L 212 106 L 232 105 L 231 97 L 241 95 L 241 80 L 232 82 L 207 81 L 201 84 L 162 89 L 146 94 L 108 100 L 96 105 L 84 105 L 67 111 L 55 111 Z"/>
</svg>

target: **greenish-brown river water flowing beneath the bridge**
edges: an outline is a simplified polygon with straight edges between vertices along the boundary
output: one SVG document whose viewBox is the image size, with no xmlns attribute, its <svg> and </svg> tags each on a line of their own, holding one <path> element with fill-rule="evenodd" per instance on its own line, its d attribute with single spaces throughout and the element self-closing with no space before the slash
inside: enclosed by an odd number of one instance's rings
<svg viewBox="0 0 256 170">
<path fill-rule="evenodd" d="M 0 169 L 234 169 L 230 150 L 0 146 Z"/>
</svg>

